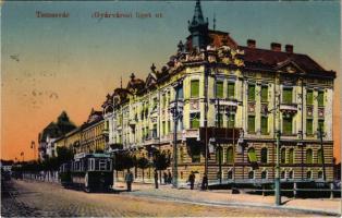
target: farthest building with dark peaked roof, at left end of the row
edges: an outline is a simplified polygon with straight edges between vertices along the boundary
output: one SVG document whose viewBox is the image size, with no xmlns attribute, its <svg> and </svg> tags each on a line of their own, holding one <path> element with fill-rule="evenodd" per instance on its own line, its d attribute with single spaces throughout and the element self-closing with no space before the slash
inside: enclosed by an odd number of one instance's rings
<svg viewBox="0 0 342 218">
<path fill-rule="evenodd" d="M 70 121 L 65 111 L 58 117 L 57 122 L 47 125 L 38 135 L 39 159 L 56 156 L 54 141 L 75 128 L 76 125 Z"/>
</svg>

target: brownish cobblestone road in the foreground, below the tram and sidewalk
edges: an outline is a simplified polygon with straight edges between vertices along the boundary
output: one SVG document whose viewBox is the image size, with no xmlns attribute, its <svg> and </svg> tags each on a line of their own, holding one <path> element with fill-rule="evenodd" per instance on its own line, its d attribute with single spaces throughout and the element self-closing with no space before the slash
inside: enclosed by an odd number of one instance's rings
<svg viewBox="0 0 342 218">
<path fill-rule="evenodd" d="M 265 208 L 203 206 L 131 194 L 84 193 L 58 184 L 13 181 L 2 186 L 3 217 L 255 217 L 309 216 L 313 214 Z"/>
</svg>

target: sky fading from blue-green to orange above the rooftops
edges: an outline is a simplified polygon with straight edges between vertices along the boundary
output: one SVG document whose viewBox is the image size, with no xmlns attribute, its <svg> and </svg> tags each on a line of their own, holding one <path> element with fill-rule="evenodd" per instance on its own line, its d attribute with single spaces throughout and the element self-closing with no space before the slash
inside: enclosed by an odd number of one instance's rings
<svg viewBox="0 0 342 218">
<path fill-rule="evenodd" d="M 195 1 L 2 2 L 1 158 L 37 157 L 38 133 L 65 110 L 80 125 L 129 75 L 146 78 L 152 63 L 164 65 L 186 38 Z M 340 2 L 203 1 L 204 15 L 239 45 L 294 45 L 326 70 L 340 73 Z M 36 17 L 36 12 L 69 17 Z M 133 17 L 97 19 L 99 13 Z M 150 13 L 151 17 L 136 17 Z M 161 14 L 161 17 L 156 17 Z M 338 76 L 338 80 L 340 77 Z M 340 85 L 335 83 L 334 156 L 340 159 Z M 21 156 L 21 153 L 24 156 Z"/>
</svg>

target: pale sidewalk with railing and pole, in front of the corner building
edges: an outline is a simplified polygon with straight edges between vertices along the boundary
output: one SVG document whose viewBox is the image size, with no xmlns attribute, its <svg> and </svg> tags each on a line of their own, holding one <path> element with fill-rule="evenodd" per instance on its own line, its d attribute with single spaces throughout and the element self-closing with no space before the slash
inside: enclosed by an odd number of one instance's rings
<svg viewBox="0 0 342 218">
<path fill-rule="evenodd" d="M 115 190 L 125 190 L 125 183 L 117 182 Z M 230 190 L 190 190 L 173 189 L 171 185 L 159 185 L 155 189 L 151 183 L 133 183 L 133 192 L 124 192 L 124 194 L 154 197 L 160 199 L 192 203 L 192 204 L 209 204 L 212 206 L 237 206 L 237 207 L 267 207 L 289 210 L 305 210 L 322 215 L 341 216 L 340 198 L 289 198 L 282 197 L 282 206 L 274 205 L 274 196 L 261 196 L 253 194 L 231 194 Z"/>
</svg>

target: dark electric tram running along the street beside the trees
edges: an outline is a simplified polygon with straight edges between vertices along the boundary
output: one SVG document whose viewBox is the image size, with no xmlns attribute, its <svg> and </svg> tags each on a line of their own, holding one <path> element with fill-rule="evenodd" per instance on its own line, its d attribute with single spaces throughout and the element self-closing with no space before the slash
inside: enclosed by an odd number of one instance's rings
<svg viewBox="0 0 342 218">
<path fill-rule="evenodd" d="M 77 154 L 60 168 L 63 186 L 81 187 L 85 192 L 109 191 L 113 185 L 112 159 L 108 154 Z"/>
</svg>

